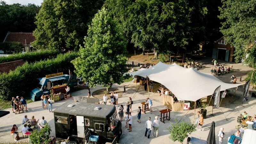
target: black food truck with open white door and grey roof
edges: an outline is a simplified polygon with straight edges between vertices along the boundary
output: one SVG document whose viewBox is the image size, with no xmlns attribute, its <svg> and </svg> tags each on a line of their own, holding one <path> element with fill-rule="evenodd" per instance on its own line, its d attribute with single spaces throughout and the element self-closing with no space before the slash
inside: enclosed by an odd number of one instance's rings
<svg viewBox="0 0 256 144">
<path fill-rule="evenodd" d="M 54 121 L 57 138 L 70 136 L 86 141 L 89 130 L 90 135 L 99 136 L 102 144 L 113 140 L 118 142 L 122 135 L 122 124 L 113 105 L 67 101 L 54 110 Z"/>
</svg>

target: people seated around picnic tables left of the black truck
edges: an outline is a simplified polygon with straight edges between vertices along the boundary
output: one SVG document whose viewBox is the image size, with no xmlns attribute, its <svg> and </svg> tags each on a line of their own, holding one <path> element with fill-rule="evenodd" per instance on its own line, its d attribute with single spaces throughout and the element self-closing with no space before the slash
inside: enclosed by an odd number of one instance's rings
<svg viewBox="0 0 256 144">
<path fill-rule="evenodd" d="M 35 116 L 32 116 L 31 119 L 28 119 L 28 116 L 25 115 L 22 118 L 22 122 L 21 124 L 23 125 L 23 127 L 21 128 L 21 131 L 18 130 L 18 127 L 16 124 L 13 124 L 12 129 L 11 129 L 11 134 L 14 135 L 14 141 L 17 141 L 20 139 L 19 137 L 19 131 L 22 132 L 23 135 L 30 135 L 31 132 L 33 131 L 33 129 L 31 128 L 32 126 L 36 126 L 38 123 L 39 119 L 36 120 Z M 44 116 L 42 117 L 42 119 L 39 121 L 38 126 L 41 128 L 45 127 L 46 125 L 46 120 L 44 120 Z M 29 139 L 29 137 L 28 137 Z"/>
</svg>

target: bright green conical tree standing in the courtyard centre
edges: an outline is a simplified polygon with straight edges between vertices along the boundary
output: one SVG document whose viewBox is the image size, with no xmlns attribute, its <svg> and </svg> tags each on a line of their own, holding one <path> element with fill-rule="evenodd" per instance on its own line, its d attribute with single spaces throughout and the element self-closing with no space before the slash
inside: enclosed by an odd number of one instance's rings
<svg viewBox="0 0 256 144">
<path fill-rule="evenodd" d="M 126 69 L 126 41 L 116 22 L 103 8 L 92 19 L 79 57 L 73 60 L 75 73 L 91 86 L 121 84 Z"/>
</svg>

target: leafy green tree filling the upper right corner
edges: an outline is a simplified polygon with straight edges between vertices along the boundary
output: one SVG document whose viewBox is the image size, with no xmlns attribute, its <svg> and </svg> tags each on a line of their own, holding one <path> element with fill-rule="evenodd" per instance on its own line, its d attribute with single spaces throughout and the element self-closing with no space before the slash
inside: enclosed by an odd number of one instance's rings
<svg viewBox="0 0 256 144">
<path fill-rule="evenodd" d="M 221 32 L 227 43 L 235 46 L 235 61 L 256 68 L 256 1 L 222 0 Z"/>
</svg>

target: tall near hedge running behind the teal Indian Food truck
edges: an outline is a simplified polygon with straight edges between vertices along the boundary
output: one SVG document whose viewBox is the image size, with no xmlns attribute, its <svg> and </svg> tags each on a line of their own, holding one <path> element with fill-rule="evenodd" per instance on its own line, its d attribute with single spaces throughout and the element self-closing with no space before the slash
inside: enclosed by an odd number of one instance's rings
<svg viewBox="0 0 256 144">
<path fill-rule="evenodd" d="M 29 92 L 38 85 L 37 78 L 45 75 L 63 72 L 68 74 L 68 69 L 74 70 L 71 60 L 78 56 L 77 52 L 59 54 L 57 58 L 39 61 L 35 63 L 26 62 L 10 73 L 0 75 L 0 99 L 10 100 L 16 96 L 29 96 Z"/>
</svg>

